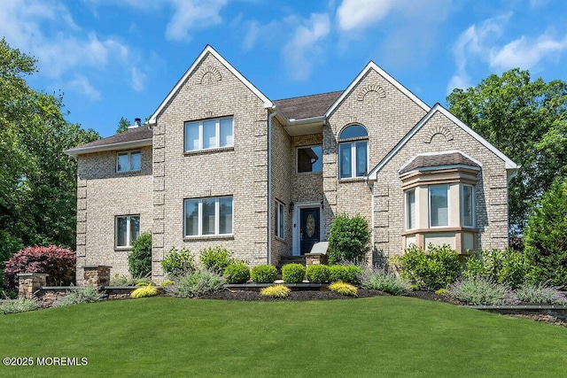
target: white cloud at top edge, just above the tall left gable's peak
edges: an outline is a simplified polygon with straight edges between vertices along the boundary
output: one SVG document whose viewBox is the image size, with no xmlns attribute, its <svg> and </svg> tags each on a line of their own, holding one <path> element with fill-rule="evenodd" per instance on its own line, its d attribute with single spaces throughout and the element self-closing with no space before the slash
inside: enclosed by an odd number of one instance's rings
<svg viewBox="0 0 567 378">
<path fill-rule="evenodd" d="M 169 0 L 174 15 L 167 24 L 166 36 L 175 41 L 188 38 L 190 30 L 218 25 L 222 7 L 228 0 Z"/>
</svg>

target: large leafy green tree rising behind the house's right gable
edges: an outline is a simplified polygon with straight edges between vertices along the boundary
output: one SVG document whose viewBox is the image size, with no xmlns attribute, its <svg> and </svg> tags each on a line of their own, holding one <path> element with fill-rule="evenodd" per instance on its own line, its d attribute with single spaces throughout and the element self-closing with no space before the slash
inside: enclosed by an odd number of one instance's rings
<svg viewBox="0 0 567 378">
<path fill-rule="evenodd" d="M 512 69 L 476 87 L 454 89 L 450 112 L 521 168 L 509 183 L 513 234 L 521 234 L 533 205 L 556 176 L 567 173 L 567 83 Z"/>
</svg>

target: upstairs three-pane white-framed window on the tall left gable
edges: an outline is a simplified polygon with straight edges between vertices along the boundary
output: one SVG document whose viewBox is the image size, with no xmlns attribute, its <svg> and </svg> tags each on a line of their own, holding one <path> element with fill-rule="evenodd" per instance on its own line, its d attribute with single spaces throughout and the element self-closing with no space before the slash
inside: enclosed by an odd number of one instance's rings
<svg viewBox="0 0 567 378">
<path fill-rule="evenodd" d="M 232 117 L 185 123 L 184 150 L 209 150 L 234 145 Z"/>
</svg>

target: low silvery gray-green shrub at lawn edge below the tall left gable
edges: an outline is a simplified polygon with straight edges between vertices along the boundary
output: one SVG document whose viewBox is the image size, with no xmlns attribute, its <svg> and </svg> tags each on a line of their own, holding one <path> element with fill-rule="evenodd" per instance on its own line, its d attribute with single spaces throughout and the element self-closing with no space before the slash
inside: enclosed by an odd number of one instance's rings
<svg viewBox="0 0 567 378">
<path fill-rule="evenodd" d="M 221 291 L 224 287 L 222 276 L 212 270 L 201 269 L 178 276 L 172 286 L 168 286 L 174 297 L 201 297 Z"/>
</svg>

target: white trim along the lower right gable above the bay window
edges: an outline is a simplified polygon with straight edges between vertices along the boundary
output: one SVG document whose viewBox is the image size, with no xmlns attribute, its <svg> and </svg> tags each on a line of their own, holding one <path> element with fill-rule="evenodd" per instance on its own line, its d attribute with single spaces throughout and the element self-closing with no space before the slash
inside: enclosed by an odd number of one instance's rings
<svg viewBox="0 0 567 378">
<path fill-rule="evenodd" d="M 494 155 L 496 155 L 498 158 L 501 158 L 501 160 L 505 163 L 505 167 L 508 170 L 514 170 L 519 168 L 519 166 L 517 166 L 516 163 L 514 163 L 512 160 L 510 160 L 506 155 L 504 155 L 500 150 L 498 150 L 496 147 L 494 147 L 492 144 L 488 143 L 482 136 L 478 135 L 474 130 L 472 130 L 470 127 L 468 127 L 467 125 L 465 125 L 464 123 L 462 123 L 461 120 L 457 119 L 453 114 L 451 114 L 449 111 L 447 111 L 447 109 L 445 109 L 443 106 L 441 106 L 440 104 L 435 104 L 432 108 L 431 111 L 428 112 L 427 114 L 425 114 L 425 116 L 423 117 L 423 119 L 421 119 L 419 122 L 417 122 L 416 126 L 414 126 L 409 132 L 408 134 L 404 135 L 403 138 L 401 138 L 400 142 L 398 144 L 396 144 L 396 146 L 390 150 L 390 152 L 388 152 L 388 154 L 382 159 L 382 161 L 380 161 L 377 166 L 375 166 L 367 175 L 367 180 L 370 181 L 376 181 L 377 180 L 377 173 L 394 157 L 394 155 L 396 155 L 398 153 L 398 151 L 406 144 L 408 143 L 408 141 L 414 136 L 416 135 L 417 131 L 419 129 L 421 129 L 423 127 L 423 125 L 425 125 L 427 123 L 428 120 L 431 119 L 431 117 L 436 113 L 436 112 L 440 112 L 443 115 L 445 115 L 449 120 L 452 120 L 454 122 L 454 124 L 458 127 L 461 127 L 465 132 L 467 132 L 469 135 L 471 135 L 473 138 L 475 138 L 479 143 L 483 144 L 488 150 L 490 150 L 491 152 L 493 152 Z M 439 153 L 439 152 L 438 152 Z M 475 161 L 475 160 L 473 160 Z"/>
</svg>

